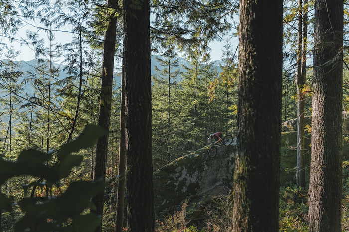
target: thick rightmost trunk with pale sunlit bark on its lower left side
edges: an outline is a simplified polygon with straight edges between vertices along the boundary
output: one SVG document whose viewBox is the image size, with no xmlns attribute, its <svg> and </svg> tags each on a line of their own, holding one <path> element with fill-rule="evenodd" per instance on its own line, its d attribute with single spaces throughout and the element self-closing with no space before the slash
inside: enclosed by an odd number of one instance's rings
<svg viewBox="0 0 349 232">
<path fill-rule="evenodd" d="M 309 231 L 341 231 L 343 0 L 315 0 Z"/>
</svg>

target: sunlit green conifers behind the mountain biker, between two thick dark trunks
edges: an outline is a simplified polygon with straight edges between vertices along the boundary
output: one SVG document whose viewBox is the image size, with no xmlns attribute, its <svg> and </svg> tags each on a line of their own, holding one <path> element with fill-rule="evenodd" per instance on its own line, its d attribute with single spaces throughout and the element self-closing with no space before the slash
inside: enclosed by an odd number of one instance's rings
<svg viewBox="0 0 349 232">
<path fill-rule="evenodd" d="M 215 98 L 210 101 L 208 87 L 218 75 L 213 62 L 192 56 L 190 64 L 183 65 L 184 72 L 179 73 L 176 54 L 171 50 L 173 47 L 168 47 L 164 59 L 160 60 L 164 69 L 158 69 L 153 76 L 152 132 L 156 168 L 207 145 L 210 133 L 232 133 L 236 126 L 236 79 L 231 73 L 226 73 L 225 81 L 214 90 Z"/>
</svg>

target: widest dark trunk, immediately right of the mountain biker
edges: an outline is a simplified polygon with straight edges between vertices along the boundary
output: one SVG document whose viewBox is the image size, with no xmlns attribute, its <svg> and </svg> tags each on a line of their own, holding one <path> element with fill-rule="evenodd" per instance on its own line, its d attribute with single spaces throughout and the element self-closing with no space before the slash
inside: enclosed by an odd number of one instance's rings
<svg viewBox="0 0 349 232">
<path fill-rule="evenodd" d="M 234 232 L 279 231 L 282 14 L 280 0 L 240 1 Z"/>
</svg>

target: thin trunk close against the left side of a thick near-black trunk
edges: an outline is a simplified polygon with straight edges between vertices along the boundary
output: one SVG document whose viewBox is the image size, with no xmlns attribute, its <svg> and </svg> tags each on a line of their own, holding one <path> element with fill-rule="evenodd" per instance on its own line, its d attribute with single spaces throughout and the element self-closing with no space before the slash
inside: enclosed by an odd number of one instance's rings
<svg viewBox="0 0 349 232">
<path fill-rule="evenodd" d="M 122 232 L 124 222 L 125 180 L 126 180 L 126 137 L 125 137 L 125 78 L 121 77 L 120 143 L 119 143 L 119 182 L 116 203 L 115 232 Z"/>
</svg>

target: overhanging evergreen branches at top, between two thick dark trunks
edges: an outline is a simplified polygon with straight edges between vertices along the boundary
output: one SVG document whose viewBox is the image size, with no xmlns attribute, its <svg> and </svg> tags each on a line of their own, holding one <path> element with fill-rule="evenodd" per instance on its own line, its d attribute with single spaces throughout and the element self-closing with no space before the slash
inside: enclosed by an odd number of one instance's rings
<svg viewBox="0 0 349 232">
<path fill-rule="evenodd" d="M 232 28 L 238 2 L 225 0 L 153 0 L 152 35 L 156 41 L 174 38 L 181 51 L 203 51 L 209 57 L 208 44 Z"/>
</svg>

